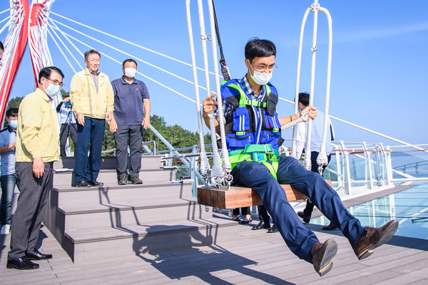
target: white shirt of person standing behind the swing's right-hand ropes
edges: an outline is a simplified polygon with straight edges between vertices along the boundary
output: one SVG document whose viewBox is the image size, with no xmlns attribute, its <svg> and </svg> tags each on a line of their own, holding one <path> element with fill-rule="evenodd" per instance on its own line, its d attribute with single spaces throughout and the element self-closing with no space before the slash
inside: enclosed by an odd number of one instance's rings
<svg viewBox="0 0 428 285">
<path fill-rule="evenodd" d="M 322 132 L 324 131 L 324 112 L 317 110 L 317 118 L 312 120 L 312 135 L 310 140 L 310 151 L 320 152 L 320 146 L 322 142 Z M 332 152 L 332 135 L 330 128 L 332 128 L 332 122 L 328 119 L 329 128 L 327 128 L 327 139 L 325 140 L 325 153 L 330 155 Z M 306 132 L 307 123 L 297 124 L 297 139 L 296 139 L 296 153 L 297 159 L 302 155 L 302 151 L 306 148 Z"/>
</svg>

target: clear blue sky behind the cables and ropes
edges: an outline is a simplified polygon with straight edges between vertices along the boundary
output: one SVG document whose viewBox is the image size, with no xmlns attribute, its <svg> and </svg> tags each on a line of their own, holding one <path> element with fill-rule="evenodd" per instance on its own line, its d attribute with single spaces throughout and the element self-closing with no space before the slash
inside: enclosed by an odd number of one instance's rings
<svg viewBox="0 0 428 285">
<path fill-rule="evenodd" d="M 198 66 L 202 67 L 196 2 L 191 1 L 193 33 Z M 126 4 L 119 3 L 110 0 L 57 0 L 51 11 L 190 63 L 184 0 L 134 0 L 126 1 Z M 205 0 L 203 3 L 206 6 Z M 249 38 L 270 39 L 277 46 L 278 66 L 271 82 L 277 87 L 280 97 L 292 100 L 295 92 L 300 26 L 303 14 L 310 4 L 312 1 L 216 0 L 215 9 L 218 14 L 223 49 L 232 76 L 241 78 L 245 75 L 243 48 Z M 424 9 L 426 2 L 422 0 L 360 0 L 357 2 L 326 0 L 320 1 L 320 4 L 330 11 L 333 23 L 330 115 L 413 144 L 428 142 L 427 128 L 423 125 L 428 103 L 426 87 L 428 17 Z M 9 1 L 1 1 L 0 11 L 8 7 Z M 5 14 L 1 14 L 0 20 L 4 18 Z M 193 79 L 188 66 L 83 28 L 58 16 L 51 15 L 51 18 L 125 51 L 133 57 L 141 58 L 190 81 Z M 311 13 L 305 28 L 301 91 L 310 88 L 312 19 Z M 205 14 L 205 22 L 206 33 L 210 33 L 207 14 Z M 130 57 L 78 35 L 64 26 L 58 26 L 61 31 L 69 33 L 120 62 Z M 0 34 L 2 40 L 5 36 L 5 32 Z M 65 73 L 64 89 L 68 90 L 73 71 L 51 36 L 48 38 L 54 65 Z M 65 41 L 64 38 L 62 39 Z M 87 47 L 83 44 L 76 41 L 73 43 L 81 53 L 86 51 Z M 327 68 L 327 21 L 324 14 L 319 15 L 317 43 L 314 105 L 323 110 Z M 70 44 L 67 46 L 83 65 L 83 58 Z M 65 51 L 63 46 L 61 48 Z M 77 63 L 73 62 L 71 56 L 68 58 L 76 71 L 79 71 L 80 67 Z M 111 80 L 122 75 L 121 65 L 106 56 L 101 57 L 100 70 L 107 73 Z M 212 61 L 210 61 L 210 70 L 213 70 Z M 141 61 L 138 61 L 138 71 L 194 99 L 193 86 L 189 83 L 158 71 Z M 34 90 L 31 73 L 31 61 L 27 51 L 11 91 L 11 98 L 26 95 Z M 198 75 L 200 85 L 204 85 L 203 73 L 200 72 Z M 143 76 L 137 76 L 137 78 L 146 82 L 151 93 L 152 114 L 163 116 L 170 125 L 176 123 L 189 130 L 197 130 L 194 103 Z M 205 96 L 205 91 L 200 90 L 200 94 Z M 293 112 L 293 106 L 280 102 L 277 110 L 280 116 L 287 116 Z M 335 125 L 337 140 L 384 142 L 387 145 L 397 145 L 396 142 L 379 138 L 335 120 L 332 120 L 332 123 Z M 285 137 L 290 137 L 290 132 L 286 132 Z"/>
</svg>

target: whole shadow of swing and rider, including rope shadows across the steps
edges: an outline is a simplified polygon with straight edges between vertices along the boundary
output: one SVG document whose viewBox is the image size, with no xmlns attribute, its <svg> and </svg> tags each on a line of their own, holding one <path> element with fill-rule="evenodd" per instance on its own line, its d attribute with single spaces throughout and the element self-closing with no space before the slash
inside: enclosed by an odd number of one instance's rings
<svg viewBox="0 0 428 285">
<path fill-rule="evenodd" d="M 107 204 L 103 202 L 103 197 Z M 230 269 L 243 275 L 252 276 L 254 279 L 260 279 L 260 283 L 292 284 L 276 276 L 246 268 L 244 266 L 256 265 L 257 263 L 238 254 L 228 252 L 219 246 L 214 246 L 218 224 L 208 222 L 205 219 L 195 219 L 201 210 L 196 210 L 196 207 L 201 206 L 193 201 L 188 201 L 187 219 L 192 220 L 195 224 L 203 225 L 205 227 L 204 234 L 201 234 L 200 227 L 198 229 L 196 226 L 143 224 L 138 219 L 135 207 L 128 206 L 128 210 L 133 212 L 136 226 L 141 227 L 143 231 L 136 230 L 135 226 L 130 229 L 123 224 L 121 209 L 119 208 L 126 205 L 112 204 L 108 197 L 108 189 L 102 187 L 99 188 L 99 198 L 100 204 L 109 209 L 111 227 L 132 234 L 133 252 L 136 253 L 136 256 L 149 262 L 170 279 L 195 276 L 208 284 L 232 284 L 213 274 L 215 271 Z M 139 237 L 142 238 L 139 239 Z M 171 240 L 174 242 L 170 242 Z M 209 250 L 200 250 L 196 247 L 205 247 L 204 249 L 209 247 Z"/>
</svg>

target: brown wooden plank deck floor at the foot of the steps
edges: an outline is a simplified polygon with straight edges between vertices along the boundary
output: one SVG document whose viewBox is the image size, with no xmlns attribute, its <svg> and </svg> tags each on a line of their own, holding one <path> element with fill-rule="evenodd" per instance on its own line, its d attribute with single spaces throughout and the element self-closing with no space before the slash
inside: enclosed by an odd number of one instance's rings
<svg viewBox="0 0 428 285">
<path fill-rule="evenodd" d="M 349 199 L 345 204 L 397 190 Z M 226 214 L 218 218 L 228 219 Z M 146 248 L 139 256 L 101 260 L 94 254 L 79 264 L 73 264 L 43 227 L 41 252 L 54 254 L 54 259 L 39 262 L 40 269 L 33 271 L 6 269 L 10 236 L 0 236 L 0 284 L 428 284 L 427 240 L 393 237 L 371 257 L 358 261 L 340 231 L 325 232 L 321 226 L 307 224 L 321 241 L 334 238 L 339 245 L 332 271 L 321 278 L 312 264 L 290 252 L 280 234 L 250 230 L 256 223 L 240 225 L 234 242 L 198 247 L 198 237 L 189 236 L 193 249 L 154 255 Z M 215 229 L 207 234 L 217 239 Z"/>
</svg>

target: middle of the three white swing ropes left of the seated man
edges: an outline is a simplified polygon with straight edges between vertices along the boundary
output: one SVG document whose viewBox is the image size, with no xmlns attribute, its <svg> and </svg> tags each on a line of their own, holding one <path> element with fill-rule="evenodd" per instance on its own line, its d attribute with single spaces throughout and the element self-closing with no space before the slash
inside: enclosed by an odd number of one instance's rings
<svg viewBox="0 0 428 285">
<path fill-rule="evenodd" d="M 203 5 L 202 0 L 198 0 L 198 15 L 199 15 L 199 26 L 200 26 L 200 41 L 202 43 L 202 54 L 203 54 L 203 66 L 205 71 L 205 85 L 207 90 L 207 97 L 211 95 L 210 90 L 210 75 L 208 73 L 208 52 L 207 52 L 207 40 L 208 36 L 205 34 L 205 20 L 203 17 Z M 218 100 L 220 93 L 218 93 Z M 215 114 L 211 112 L 208 114 L 210 118 L 210 131 L 211 131 L 211 142 L 213 145 L 213 168 L 211 170 L 211 183 L 215 187 L 219 187 L 223 182 L 223 170 L 220 166 L 220 156 L 218 155 L 217 147 L 217 136 L 215 135 Z"/>
</svg>

